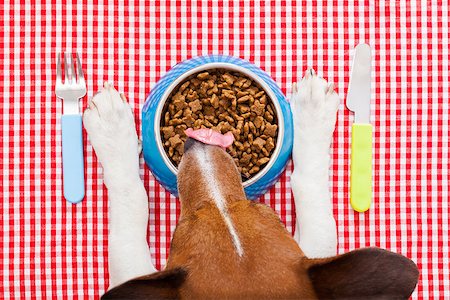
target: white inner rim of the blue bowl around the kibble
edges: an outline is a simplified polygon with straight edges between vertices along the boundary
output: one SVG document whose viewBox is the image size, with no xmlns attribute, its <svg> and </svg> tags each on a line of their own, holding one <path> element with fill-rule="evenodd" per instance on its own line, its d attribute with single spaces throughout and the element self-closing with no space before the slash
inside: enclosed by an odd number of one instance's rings
<svg viewBox="0 0 450 300">
<path fill-rule="evenodd" d="M 164 150 L 164 146 L 162 144 L 161 129 L 160 129 L 162 110 L 164 108 L 165 103 L 167 102 L 167 100 L 169 98 L 169 95 L 183 80 L 185 80 L 187 77 L 191 76 L 192 74 L 195 74 L 195 73 L 198 73 L 198 72 L 201 72 L 204 70 L 210 70 L 210 69 L 227 69 L 227 70 L 232 70 L 232 71 L 239 72 L 239 73 L 246 75 L 247 77 L 256 81 L 262 87 L 262 89 L 267 93 L 267 95 L 269 96 L 270 100 L 272 101 L 272 103 L 275 107 L 277 121 L 278 121 L 278 124 L 277 124 L 278 125 L 278 137 L 277 137 L 277 143 L 275 145 L 275 149 L 270 157 L 269 162 L 264 166 L 264 168 L 262 170 L 260 170 L 258 173 L 256 173 L 255 176 L 242 182 L 242 185 L 244 186 L 244 188 L 246 188 L 246 187 L 254 184 L 255 182 L 257 182 L 260 178 L 262 178 L 270 170 L 270 168 L 273 166 L 273 164 L 277 160 L 277 157 L 280 154 L 281 147 L 283 145 L 284 118 L 283 118 L 283 112 L 282 112 L 279 100 L 276 97 L 273 90 L 270 88 L 270 86 L 260 76 L 258 76 L 256 73 L 254 73 L 253 71 L 251 71 L 245 67 L 242 67 L 242 66 L 239 66 L 239 65 L 236 65 L 233 63 L 227 63 L 227 62 L 210 62 L 210 63 L 202 64 L 195 68 L 192 68 L 192 69 L 184 72 L 180 76 L 178 76 L 166 88 L 166 90 L 164 91 L 164 93 L 162 94 L 162 96 L 160 98 L 158 106 L 156 107 L 155 120 L 154 120 L 154 131 L 155 131 L 154 133 L 155 133 L 155 137 L 156 137 L 155 140 L 156 140 L 156 144 L 158 146 L 158 151 L 159 151 L 164 163 L 168 167 L 168 169 L 172 172 L 172 174 L 177 176 L 178 168 L 176 168 L 173 165 L 172 161 L 170 160 L 166 151 Z"/>
</svg>

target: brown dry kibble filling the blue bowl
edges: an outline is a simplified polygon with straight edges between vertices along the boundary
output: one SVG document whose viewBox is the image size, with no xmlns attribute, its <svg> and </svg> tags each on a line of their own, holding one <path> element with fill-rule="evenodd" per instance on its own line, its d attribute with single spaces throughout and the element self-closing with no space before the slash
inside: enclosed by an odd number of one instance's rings
<svg viewBox="0 0 450 300">
<path fill-rule="evenodd" d="M 231 131 L 235 141 L 227 151 L 244 180 L 269 161 L 278 135 L 275 109 L 266 92 L 245 75 L 224 69 L 191 75 L 168 99 L 161 137 L 175 166 L 183 155 L 187 128 Z"/>
</svg>

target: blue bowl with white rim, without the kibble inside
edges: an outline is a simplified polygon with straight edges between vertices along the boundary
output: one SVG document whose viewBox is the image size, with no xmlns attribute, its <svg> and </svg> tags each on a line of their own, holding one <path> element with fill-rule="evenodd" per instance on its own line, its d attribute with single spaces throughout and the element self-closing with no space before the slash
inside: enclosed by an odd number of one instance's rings
<svg viewBox="0 0 450 300">
<path fill-rule="evenodd" d="M 187 77 L 209 69 L 229 69 L 245 74 L 257 82 L 272 100 L 278 119 L 278 138 L 267 165 L 255 176 L 243 182 L 249 199 L 263 195 L 283 172 L 292 152 L 293 125 L 286 98 L 269 75 L 257 66 L 240 58 L 208 55 L 195 57 L 177 64 L 155 85 L 142 110 L 142 138 L 144 159 L 155 178 L 175 196 L 177 168 L 167 156 L 160 135 L 164 104 L 172 91 Z"/>
</svg>

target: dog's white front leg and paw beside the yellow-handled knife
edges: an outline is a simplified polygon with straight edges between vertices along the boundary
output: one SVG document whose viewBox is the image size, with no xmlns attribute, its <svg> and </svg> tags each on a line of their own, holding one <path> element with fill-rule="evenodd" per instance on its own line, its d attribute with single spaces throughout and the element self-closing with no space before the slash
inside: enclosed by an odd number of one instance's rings
<svg viewBox="0 0 450 300">
<path fill-rule="evenodd" d="M 297 222 L 294 239 L 311 258 L 336 255 L 336 222 L 328 185 L 329 148 L 339 96 L 332 84 L 309 69 L 294 84 L 294 171 L 291 186 Z"/>
</svg>

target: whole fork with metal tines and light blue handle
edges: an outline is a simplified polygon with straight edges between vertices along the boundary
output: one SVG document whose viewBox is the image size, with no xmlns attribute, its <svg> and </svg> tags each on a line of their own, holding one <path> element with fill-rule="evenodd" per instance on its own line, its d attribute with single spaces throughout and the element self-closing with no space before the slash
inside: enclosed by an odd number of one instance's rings
<svg viewBox="0 0 450 300">
<path fill-rule="evenodd" d="M 82 120 L 78 101 L 86 95 L 86 82 L 78 53 L 76 69 L 73 55 L 63 53 L 64 82 L 61 54 L 57 55 L 55 94 L 63 99 L 61 129 L 64 198 L 71 203 L 78 203 L 83 200 L 85 193 Z"/>
</svg>

